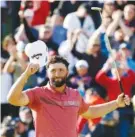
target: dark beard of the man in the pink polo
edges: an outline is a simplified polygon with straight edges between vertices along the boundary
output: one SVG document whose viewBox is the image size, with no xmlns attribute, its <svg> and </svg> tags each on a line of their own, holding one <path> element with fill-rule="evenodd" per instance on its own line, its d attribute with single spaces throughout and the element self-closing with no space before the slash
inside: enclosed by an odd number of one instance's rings
<svg viewBox="0 0 135 137">
<path fill-rule="evenodd" d="M 54 87 L 61 87 L 66 83 L 66 77 L 60 78 L 61 80 L 58 80 L 58 81 L 56 79 L 57 78 L 52 78 L 50 80 L 51 85 L 54 86 Z"/>
</svg>

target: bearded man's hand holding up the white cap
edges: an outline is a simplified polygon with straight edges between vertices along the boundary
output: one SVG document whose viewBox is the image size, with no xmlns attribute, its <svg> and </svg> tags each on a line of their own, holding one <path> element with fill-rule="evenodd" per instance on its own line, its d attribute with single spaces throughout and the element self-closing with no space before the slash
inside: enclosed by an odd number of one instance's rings
<svg viewBox="0 0 135 137">
<path fill-rule="evenodd" d="M 39 69 L 39 65 L 38 64 L 33 64 L 33 63 L 30 63 L 26 70 L 25 70 L 25 74 L 27 74 L 27 76 L 31 76 L 33 74 L 35 74 Z"/>
</svg>

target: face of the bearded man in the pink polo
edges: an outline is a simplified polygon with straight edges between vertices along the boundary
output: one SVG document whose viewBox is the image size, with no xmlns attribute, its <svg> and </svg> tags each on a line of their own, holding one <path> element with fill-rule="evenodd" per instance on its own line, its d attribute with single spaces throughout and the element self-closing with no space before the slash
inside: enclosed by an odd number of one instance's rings
<svg viewBox="0 0 135 137">
<path fill-rule="evenodd" d="M 54 63 L 49 65 L 47 74 L 52 86 L 61 87 L 66 83 L 68 70 L 63 63 Z"/>
</svg>

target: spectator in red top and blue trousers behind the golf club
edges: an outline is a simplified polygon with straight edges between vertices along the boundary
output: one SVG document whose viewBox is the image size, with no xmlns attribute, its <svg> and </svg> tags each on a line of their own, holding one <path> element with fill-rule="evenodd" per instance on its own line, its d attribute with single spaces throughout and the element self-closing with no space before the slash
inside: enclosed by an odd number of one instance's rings
<svg viewBox="0 0 135 137">
<path fill-rule="evenodd" d="M 106 88 L 109 100 L 113 100 L 121 93 L 119 83 L 117 80 L 116 71 L 114 68 L 111 69 L 112 61 L 108 59 L 103 68 L 96 75 L 96 81 Z M 112 77 L 107 76 L 108 70 L 112 70 Z M 125 94 L 131 97 L 131 89 L 135 84 L 135 73 L 124 64 L 117 62 L 117 70 L 119 72 L 122 86 Z M 129 137 L 129 128 L 131 126 L 131 117 L 133 117 L 133 109 L 127 107 L 120 109 L 120 123 L 119 123 L 119 136 Z M 126 117 L 126 119 L 125 119 Z"/>
</svg>

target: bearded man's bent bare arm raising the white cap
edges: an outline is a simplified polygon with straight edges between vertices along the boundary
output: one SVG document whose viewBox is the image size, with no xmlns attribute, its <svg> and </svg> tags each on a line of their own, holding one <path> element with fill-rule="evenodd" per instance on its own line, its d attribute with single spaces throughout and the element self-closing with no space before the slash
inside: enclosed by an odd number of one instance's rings
<svg viewBox="0 0 135 137">
<path fill-rule="evenodd" d="M 28 96 L 26 95 L 26 93 L 23 93 L 22 90 L 28 78 L 32 74 L 36 73 L 38 69 L 39 65 L 37 64 L 28 65 L 25 72 L 18 78 L 18 80 L 13 84 L 9 91 L 7 100 L 10 104 L 15 106 L 25 106 L 29 103 Z"/>
</svg>

